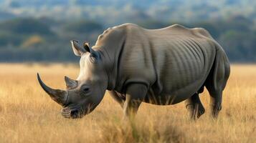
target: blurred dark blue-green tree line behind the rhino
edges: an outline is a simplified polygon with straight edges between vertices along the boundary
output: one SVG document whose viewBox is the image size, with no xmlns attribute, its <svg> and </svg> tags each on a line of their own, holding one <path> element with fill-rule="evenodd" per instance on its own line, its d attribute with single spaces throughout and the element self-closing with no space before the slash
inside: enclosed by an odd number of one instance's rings
<svg viewBox="0 0 256 143">
<path fill-rule="evenodd" d="M 230 61 L 256 61 L 256 24 L 243 16 L 228 19 L 179 23 L 156 20 L 133 21 L 148 29 L 182 24 L 189 28 L 203 27 L 227 51 Z M 97 21 L 65 21 L 42 17 L 11 19 L 0 22 L 0 61 L 76 61 L 70 39 L 95 43 L 108 28 Z"/>
</svg>

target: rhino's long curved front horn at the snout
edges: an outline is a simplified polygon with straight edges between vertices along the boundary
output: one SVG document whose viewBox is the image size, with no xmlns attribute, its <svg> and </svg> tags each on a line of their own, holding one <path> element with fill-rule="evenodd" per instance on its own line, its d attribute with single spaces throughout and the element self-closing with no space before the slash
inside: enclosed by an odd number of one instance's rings
<svg viewBox="0 0 256 143">
<path fill-rule="evenodd" d="M 41 78 L 39 77 L 39 74 L 37 73 L 37 79 L 39 84 L 41 85 L 42 89 L 44 89 L 44 92 L 47 92 L 49 94 L 49 97 L 51 97 L 54 102 L 57 102 L 58 104 L 64 106 L 67 102 L 67 92 L 60 89 L 52 89 L 50 87 L 47 87 L 47 85 L 42 82 Z"/>
</svg>

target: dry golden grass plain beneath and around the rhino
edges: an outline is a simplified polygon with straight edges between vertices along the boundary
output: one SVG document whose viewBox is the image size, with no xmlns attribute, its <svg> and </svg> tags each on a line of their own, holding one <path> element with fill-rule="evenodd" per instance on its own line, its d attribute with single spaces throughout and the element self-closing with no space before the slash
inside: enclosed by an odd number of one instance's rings
<svg viewBox="0 0 256 143">
<path fill-rule="evenodd" d="M 75 79 L 73 64 L 0 64 L 0 142 L 256 142 L 256 65 L 232 65 L 217 120 L 206 109 L 196 122 L 184 102 L 172 106 L 142 104 L 136 122 L 122 121 L 123 111 L 106 94 L 94 112 L 65 119 L 61 107 L 39 87 L 65 88 L 64 75 Z M 122 125 L 124 124 L 124 125 Z"/>
</svg>

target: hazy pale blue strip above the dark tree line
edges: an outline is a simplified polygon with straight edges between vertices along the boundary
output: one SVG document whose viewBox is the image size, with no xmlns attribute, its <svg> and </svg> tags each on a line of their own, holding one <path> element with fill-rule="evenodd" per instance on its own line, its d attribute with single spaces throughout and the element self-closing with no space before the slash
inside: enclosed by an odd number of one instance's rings
<svg viewBox="0 0 256 143">
<path fill-rule="evenodd" d="M 254 0 L 0 0 L 0 20 L 14 17 L 93 19 L 106 23 L 125 20 L 197 21 L 243 15 L 256 19 Z"/>
</svg>

